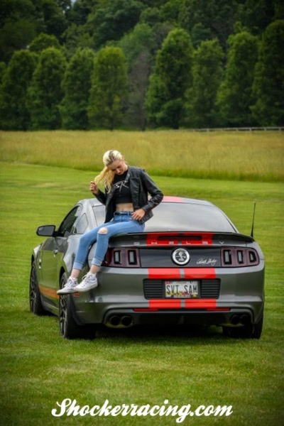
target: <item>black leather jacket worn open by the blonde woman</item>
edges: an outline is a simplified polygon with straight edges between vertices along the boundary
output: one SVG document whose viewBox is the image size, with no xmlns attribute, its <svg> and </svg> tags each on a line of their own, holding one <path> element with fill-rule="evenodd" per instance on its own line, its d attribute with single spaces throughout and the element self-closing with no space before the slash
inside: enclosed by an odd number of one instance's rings
<svg viewBox="0 0 284 426">
<path fill-rule="evenodd" d="M 152 209 L 163 200 L 163 193 L 155 185 L 155 182 L 150 178 L 145 170 L 129 166 L 129 187 L 131 192 L 132 204 L 134 210 L 143 209 L 146 214 L 139 222 L 143 224 L 148 219 L 153 217 Z M 151 198 L 148 199 L 148 193 Z M 99 202 L 102 202 L 106 206 L 106 219 L 105 222 L 110 222 L 114 217 L 116 211 L 116 205 L 114 203 L 114 188 L 111 187 L 110 192 L 102 192 L 95 195 Z"/>
</svg>

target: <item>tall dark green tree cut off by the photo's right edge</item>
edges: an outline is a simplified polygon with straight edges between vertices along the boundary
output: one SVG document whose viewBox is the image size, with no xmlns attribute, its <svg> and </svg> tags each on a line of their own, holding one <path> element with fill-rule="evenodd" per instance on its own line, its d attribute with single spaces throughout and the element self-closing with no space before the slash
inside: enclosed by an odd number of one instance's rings
<svg viewBox="0 0 284 426">
<path fill-rule="evenodd" d="M 261 126 L 284 124 L 284 20 L 263 34 L 253 81 L 253 117 Z"/>
</svg>

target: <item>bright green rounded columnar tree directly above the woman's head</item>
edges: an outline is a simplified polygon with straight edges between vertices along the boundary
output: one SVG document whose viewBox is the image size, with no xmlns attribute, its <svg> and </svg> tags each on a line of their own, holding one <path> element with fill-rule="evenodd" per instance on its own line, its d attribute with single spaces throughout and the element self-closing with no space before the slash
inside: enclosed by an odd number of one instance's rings
<svg viewBox="0 0 284 426">
<path fill-rule="evenodd" d="M 121 48 L 100 50 L 94 62 L 89 99 L 89 123 L 92 128 L 114 130 L 119 126 L 127 85 L 126 60 Z"/>
</svg>

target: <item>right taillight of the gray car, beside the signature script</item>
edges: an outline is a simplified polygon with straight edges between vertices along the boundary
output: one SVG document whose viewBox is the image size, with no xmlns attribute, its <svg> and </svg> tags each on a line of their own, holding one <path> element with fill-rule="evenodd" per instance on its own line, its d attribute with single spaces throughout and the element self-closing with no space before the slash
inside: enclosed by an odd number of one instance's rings
<svg viewBox="0 0 284 426">
<path fill-rule="evenodd" d="M 226 268 L 237 268 L 240 266 L 258 265 L 258 253 L 247 247 L 222 247 L 221 266 Z"/>
</svg>

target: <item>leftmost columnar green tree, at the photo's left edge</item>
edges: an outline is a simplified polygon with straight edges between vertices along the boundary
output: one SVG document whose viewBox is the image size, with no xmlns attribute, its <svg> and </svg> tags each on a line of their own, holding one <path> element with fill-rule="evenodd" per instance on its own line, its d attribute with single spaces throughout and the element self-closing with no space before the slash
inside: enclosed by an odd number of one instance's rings
<svg viewBox="0 0 284 426">
<path fill-rule="evenodd" d="M 1 86 L 2 129 L 27 130 L 31 126 L 26 97 L 37 61 L 37 55 L 28 50 L 17 50 L 13 53 Z"/>
</svg>

